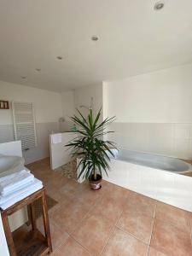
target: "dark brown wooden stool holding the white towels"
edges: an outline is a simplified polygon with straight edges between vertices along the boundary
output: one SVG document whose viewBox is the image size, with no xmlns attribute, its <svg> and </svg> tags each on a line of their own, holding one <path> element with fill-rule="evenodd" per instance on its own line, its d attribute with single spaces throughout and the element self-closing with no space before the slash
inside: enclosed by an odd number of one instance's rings
<svg viewBox="0 0 192 256">
<path fill-rule="evenodd" d="M 41 198 L 42 207 L 43 207 L 43 218 L 44 218 L 44 234 L 43 236 L 41 232 L 37 229 L 35 212 L 32 206 L 32 203 Z M 8 216 L 23 207 L 28 206 L 31 222 L 32 222 L 32 230 L 27 233 L 25 236 L 25 242 L 17 246 L 14 242 L 12 232 L 9 227 L 9 218 Z M 50 230 L 49 230 L 49 217 L 48 217 L 48 208 L 47 201 L 45 195 L 45 189 L 39 189 L 32 195 L 28 195 L 21 201 L 16 202 L 13 206 L 9 207 L 6 210 L 1 210 L 2 221 L 4 233 L 8 242 L 9 253 L 11 256 L 18 255 L 45 255 L 46 253 L 52 252 L 52 244 L 50 238 Z"/>
</svg>

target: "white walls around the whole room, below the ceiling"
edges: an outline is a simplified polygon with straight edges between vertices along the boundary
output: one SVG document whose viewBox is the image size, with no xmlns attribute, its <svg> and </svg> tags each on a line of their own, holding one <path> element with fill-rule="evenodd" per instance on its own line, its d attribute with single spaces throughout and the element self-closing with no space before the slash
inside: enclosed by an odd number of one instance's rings
<svg viewBox="0 0 192 256">
<path fill-rule="evenodd" d="M 0 98 L 34 102 L 38 148 L 26 152 L 27 162 L 49 155 L 49 133 L 69 131 L 69 116 L 80 105 L 104 117 L 116 115 L 113 140 L 120 148 L 192 159 L 192 65 L 172 67 L 129 79 L 103 82 L 55 93 L 0 82 Z M 88 110 L 79 108 L 85 115 Z M 0 110 L 0 143 L 14 140 L 11 110 Z M 60 127 L 58 119 L 66 121 Z"/>
</svg>

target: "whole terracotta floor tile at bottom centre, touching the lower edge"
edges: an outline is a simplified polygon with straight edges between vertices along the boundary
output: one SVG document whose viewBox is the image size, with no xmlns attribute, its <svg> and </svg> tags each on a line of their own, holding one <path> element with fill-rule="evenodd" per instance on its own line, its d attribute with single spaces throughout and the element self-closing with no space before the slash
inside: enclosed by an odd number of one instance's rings
<svg viewBox="0 0 192 256">
<path fill-rule="evenodd" d="M 91 215 L 84 219 L 79 229 L 73 232 L 75 240 L 86 247 L 90 253 L 98 255 L 113 231 L 113 224 L 108 218 Z"/>
</svg>

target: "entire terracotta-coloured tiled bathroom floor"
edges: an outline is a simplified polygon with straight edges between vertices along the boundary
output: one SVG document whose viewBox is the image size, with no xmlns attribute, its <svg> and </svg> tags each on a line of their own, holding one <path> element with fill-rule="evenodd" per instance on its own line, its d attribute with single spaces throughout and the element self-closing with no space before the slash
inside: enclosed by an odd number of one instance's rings
<svg viewBox="0 0 192 256">
<path fill-rule="evenodd" d="M 51 171 L 49 160 L 27 167 L 59 202 L 49 210 L 51 255 L 192 255 L 192 213 L 105 181 L 92 191 Z"/>
</svg>

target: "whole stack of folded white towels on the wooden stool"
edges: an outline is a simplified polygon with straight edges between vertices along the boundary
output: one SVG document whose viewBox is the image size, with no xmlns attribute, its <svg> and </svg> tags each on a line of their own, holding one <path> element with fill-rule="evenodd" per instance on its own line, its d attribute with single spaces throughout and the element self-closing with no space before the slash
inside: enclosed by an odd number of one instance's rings
<svg viewBox="0 0 192 256">
<path fill-rule="evenodd" d="M 0 177 L 0 207 L 7 209 L 42 188 L 42 182 L 26 170 Z"/>
</svg>

